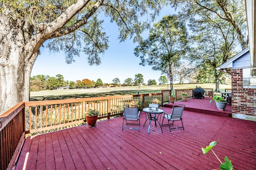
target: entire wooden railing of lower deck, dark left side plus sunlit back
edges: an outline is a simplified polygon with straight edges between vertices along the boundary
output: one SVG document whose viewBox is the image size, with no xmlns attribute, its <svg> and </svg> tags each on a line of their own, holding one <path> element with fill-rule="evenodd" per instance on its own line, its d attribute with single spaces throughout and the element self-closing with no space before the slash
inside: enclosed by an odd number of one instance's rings
<svg viewBox="0 0 256 170">
<path fill-rule="evenodd" d="M 0 115 L 0 170 L 11 169 L 22 146 L 25 133 L 36 133 L 84 122 L 83 113 L 89 107 L 97 109 L 98 119 L 122 115 L 123 105 L 138 100 L 140 109 L 154 98 L 168 102 L 170 90 L 156 94 L 106 96 L 70 100 L 20 102 Z"/>
</svg>

